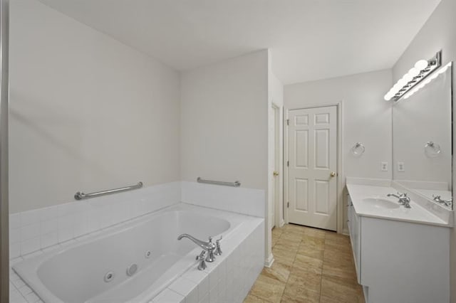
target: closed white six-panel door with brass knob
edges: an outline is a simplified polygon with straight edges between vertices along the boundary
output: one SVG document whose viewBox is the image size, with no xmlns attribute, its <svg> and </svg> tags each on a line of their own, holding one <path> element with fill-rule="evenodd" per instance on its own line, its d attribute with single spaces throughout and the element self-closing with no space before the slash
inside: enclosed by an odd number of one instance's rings
<svg viewBox="0 0 456 303">
<path fill-rule="evenodd" d="M 290 223 L 337 228 L 337 108 L 289 112 Z"/>
</svg>

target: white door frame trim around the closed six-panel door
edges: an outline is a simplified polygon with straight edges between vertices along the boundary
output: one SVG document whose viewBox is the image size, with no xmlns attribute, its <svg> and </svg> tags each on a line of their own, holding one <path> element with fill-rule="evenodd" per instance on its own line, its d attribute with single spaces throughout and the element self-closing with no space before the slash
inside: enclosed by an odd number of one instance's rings
<svg viewBox="0 0 456 303">
<path fill-rule="evenodd" d="M 311 104 L 305 105 L 303 107 L 286 107 L 284 106 L 284 218 L 285 223 L 289 223 L 288 216 L 288 204 L 289 203 L 289 166 L 286 165 L 286 162 L 289 161 L 289 125 L 287 121 L 289 119 L 289 112 L 291 110 L 309 110 L 311 108 L 318 107 L 329 107 L 335 106 L 337 110 L 337 186 L 336 186 L 336 226 L 337 233 L 343 233 L 343 180 L 345 179 L 345 174 L 343 172 L 343 161 L 342 161 L 342 147 L 343 147 L 343 117 L 342 117 L 342 100 L 339 102 L 333 103 L 322 103 L 322 104 Z M 286 201 L 286 202 L 285 202 Z"/>
</svg>

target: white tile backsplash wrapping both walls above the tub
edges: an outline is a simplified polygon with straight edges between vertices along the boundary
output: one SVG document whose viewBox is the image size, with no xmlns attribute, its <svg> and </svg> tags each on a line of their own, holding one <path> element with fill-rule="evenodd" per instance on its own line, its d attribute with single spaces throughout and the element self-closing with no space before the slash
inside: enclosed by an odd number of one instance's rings
<svg viewBox="0 0 456 303">
<path fill-rule="evenodd" d="M 264 199 L 264 191 L 259 189 L 178 181 L 14 213 L 9 216 L 10 258 L 65 243 L 181 201 L 264 218 Z"/>
</svg>

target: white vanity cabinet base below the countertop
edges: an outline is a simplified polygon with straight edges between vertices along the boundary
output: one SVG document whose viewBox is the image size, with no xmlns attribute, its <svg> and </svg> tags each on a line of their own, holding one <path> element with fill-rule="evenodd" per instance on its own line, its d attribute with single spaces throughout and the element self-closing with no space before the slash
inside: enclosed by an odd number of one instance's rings
<svg viewBox="0 0 456 303">
<path fill-rule="evenodd" d="M 360 216 L 348 196 L 348 230 L 366 302 L 450 302 L 450 229 Z"/>
</svg>

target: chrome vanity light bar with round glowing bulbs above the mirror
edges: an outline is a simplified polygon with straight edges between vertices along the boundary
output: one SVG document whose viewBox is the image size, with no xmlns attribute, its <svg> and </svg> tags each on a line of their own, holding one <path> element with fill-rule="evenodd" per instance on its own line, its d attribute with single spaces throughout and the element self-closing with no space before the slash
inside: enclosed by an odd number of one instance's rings
<svg viewBox="0 0 456 303">
<path fill-rule="evenodd" d="M 405 98 L 410 97 L 413 93 L 430 82 L 431 79 L 427 83 L 423 80 L 439 68 L 440 65 L 442 65 L 442 50 L 437 52 L 435 56 L 429 60 L 419 60 L 415 63 L 413 68 L 410 68 L 408 73 L 403 75 L 403 78 L 400 78 L 398 82 L 391 87 L 384 99 L 386 101 L 398 101 L 401 97 L 404 97 L 404 95 L 406 95 Z M 408 92 L 410 92 L 410 94 Z"/>
</svg>

